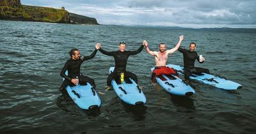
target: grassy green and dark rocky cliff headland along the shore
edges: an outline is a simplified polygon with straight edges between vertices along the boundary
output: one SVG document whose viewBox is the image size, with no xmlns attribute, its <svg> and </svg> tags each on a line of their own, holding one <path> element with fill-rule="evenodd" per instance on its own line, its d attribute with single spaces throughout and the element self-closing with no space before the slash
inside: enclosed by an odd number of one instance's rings
<svg viewBox="0 0 256 134">
<path fill-rule="evenodd" d="M 68 13 L 64 8 L 26 6 L 22 5 L 20 0 L 0 0 L 1 19 L 98 25 L 96 19 Z"/>
</svg>

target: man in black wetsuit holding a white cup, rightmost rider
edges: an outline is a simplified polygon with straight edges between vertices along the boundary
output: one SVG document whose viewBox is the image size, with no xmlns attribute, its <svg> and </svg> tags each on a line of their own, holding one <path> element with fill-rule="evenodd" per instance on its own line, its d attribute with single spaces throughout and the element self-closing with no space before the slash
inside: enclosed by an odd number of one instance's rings
<svg viewBox="0 0 256 134">
<path fill-rule="evenodd" d="M 191 73 L 195 73 L 196 75 L 200 75 L 200 73 L 210 73 L 209 70 L 205 68 L 196 68 L 195 61 L 197 60 L 199 63 L 204 63 L 205 59 L 202 57 L 202 61 L 200 62 L 198 54 L 195 52 L 196 43 L 192 42 L 189 44 L 189 50 L 184 48 L 179 48 L 179 52 L 183 54 L 184 60 L 184 75 L 185 79 L 188 80 L 189 75 Z"/>
</svg>

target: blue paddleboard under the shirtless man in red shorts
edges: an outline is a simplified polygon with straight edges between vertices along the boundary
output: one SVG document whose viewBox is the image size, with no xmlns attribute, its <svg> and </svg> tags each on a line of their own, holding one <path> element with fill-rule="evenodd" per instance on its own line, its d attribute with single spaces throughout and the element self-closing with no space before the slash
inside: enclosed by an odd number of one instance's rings
<svg viewBox="0 0 256 134">
<path fill-rule="evenodd" d="M 153 72 L 154 69 L 155 68 L 151 68 L 151 71 Z M 156 82 L 171 94 L 179 96 L 191 96 L 195 94 L 195 90 L 176 75 L 157 76 Z"/>
</svg>

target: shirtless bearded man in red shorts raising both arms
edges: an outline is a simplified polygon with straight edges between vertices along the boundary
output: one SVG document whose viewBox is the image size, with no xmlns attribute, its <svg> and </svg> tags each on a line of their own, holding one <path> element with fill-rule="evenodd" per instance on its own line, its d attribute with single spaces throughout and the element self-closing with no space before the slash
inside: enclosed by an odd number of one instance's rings
<svg viewBox="0 0 256 134">
<path fill-rule="evenodd" d="M 177 75 L 177 73 L 175 73 L 175 70 L 173 70 L 173 68 L 166 67 L 166 61 L 168 59 L 169 54 L 172 54 L 173 52 L 178 50 L 183 39 L 184 39 L 184 36 L 180 36 L 179 42 L 177 43 L 177 45 L 170 50 L 166 50 L 166 45 L 164 43 L 160 43 L 158 52 L 151 51 L 148 48 L 147 41 L 145 41 L 145 40 L 143 41 L 143 44 L 146 47 L 147 53 L 154 56 L 155 60 L 156 60 L 156 68 L 152 73 L 152 78 L 151 78 L 152 80 L 156 80 L 156 76 L 158 76 L 158 75 L 170 75 L 172 73 Z"/>
</svg>

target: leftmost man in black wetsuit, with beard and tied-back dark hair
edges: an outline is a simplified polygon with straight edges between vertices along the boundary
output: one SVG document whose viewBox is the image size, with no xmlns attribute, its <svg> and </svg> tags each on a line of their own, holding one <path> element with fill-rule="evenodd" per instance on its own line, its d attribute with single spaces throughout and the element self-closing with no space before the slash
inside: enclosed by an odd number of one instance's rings
<svg viewBox="0 0 256 134">
<path fill-rule="evenodd" d="M 92 78 L 86 77 L 80 73 L 81 64 L 88 60 L 92 59 L 97 50 L 99 50 L 99 45 L 95 45 L 95 50 L 90 56 L 80 56 L 80 52 L 77 48 L 70 50 L 69 55 L 70 59 L 65 63 L 64 67 L 61 70 L 61 77 L 65 78 L 61 84 L 60 91 L 63 91 L 65 87 L 76 86 L 77 84 L 86 85 L 86 82 L 89 82 L 93 88 L 95 88 L 95 82 Z M 68 71 L 68 75 L 65 75 L 65 71 Z"/>
</svg>

